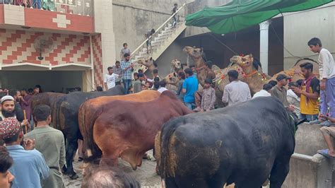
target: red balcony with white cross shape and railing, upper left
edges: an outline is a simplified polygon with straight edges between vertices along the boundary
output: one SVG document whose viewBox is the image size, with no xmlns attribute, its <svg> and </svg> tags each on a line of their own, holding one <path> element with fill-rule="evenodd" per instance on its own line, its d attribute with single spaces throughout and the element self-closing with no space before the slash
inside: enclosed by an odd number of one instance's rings
<svg viewBox="0 0 335 188">
<path fill-rule="evenodd" d="M 0 0 L 4 29 L 94 33 L 93 16 L 93 0 Z"/>
</svg>

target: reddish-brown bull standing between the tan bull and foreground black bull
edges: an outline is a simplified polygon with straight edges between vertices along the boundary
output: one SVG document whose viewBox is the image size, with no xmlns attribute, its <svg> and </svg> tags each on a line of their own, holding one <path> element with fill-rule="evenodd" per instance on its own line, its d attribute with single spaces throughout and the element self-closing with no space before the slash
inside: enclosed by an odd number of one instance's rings
<svg viewBox="0 0 335 188">
<path fill-rule="evenodd" d="M 165 122 L 192 113 L 168 90 L 150 102 L 115 100 L 110 105 L 113 108 L 96 119 L 93 139 L 102 158 L 112 159 L 110 165 L 117 165 L 120 156 L 134 170 L 141 166 L 143 154 L 153 148 L 155 134 Z"/>
</svg>

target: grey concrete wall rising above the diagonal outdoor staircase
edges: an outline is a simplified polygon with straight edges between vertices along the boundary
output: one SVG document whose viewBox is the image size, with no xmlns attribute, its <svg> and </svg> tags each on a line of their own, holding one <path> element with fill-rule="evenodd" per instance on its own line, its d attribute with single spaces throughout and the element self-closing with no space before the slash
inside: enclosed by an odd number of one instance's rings
<svg viewBox="0 0 335 188">
<path fill-rule="evenodd" d="M 181 6 L 184 0 L 113 0 L 116 59 L 120 59 L 119 52 L 124 42 L 128 43 L 131 51 L 141 45 L 148 30 L 156 30 L 171 16 L 175 3 Z"/>
</svg>

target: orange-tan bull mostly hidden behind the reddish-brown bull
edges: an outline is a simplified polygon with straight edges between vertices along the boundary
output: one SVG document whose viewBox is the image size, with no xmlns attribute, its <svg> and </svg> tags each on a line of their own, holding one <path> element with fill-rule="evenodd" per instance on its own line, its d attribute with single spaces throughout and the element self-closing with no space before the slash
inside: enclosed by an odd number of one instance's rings
<svg viewBox="0 0 335 188">
<path fill-rule="evenodd" d="M 83 152 L 86 157 L 100 157 L 101 151 L 93 141 L 93 125 L 100 126 L 95 120 L 108 109 L 114 109 L 110 102 L 114 100 L 128 100 L 134 102 L 148 102 L 160 96 L 156 90 L 143 90 L 130 95 L 105 96 L 88 100 L 81 105 L 78 112 L 78 124 L 83 136 Z M 86 152 L 86 150 L 88 152 Z"/>
</svg>

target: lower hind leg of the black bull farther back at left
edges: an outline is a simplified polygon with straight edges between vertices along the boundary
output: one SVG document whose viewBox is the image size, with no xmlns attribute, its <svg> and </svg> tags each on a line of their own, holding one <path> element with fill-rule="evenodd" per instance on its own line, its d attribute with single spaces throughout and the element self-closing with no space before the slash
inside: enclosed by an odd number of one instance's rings
<svg viewBox="0 0 335 188">
<path fill-rule="evenodd" d="M 76 172 L 74 172 L 74 165 L 73 165 L 73 159 L 74 154 L 76 153 L 78 149 L 78 142 L 76 139 L 67 140 L 66 142 L 66 174 L 70 176 L 72 180 L 75 180 L 78 178 L 78 175 Z"/>
</svg>

